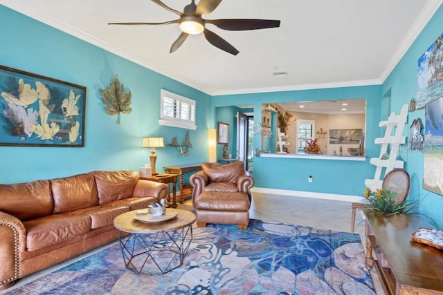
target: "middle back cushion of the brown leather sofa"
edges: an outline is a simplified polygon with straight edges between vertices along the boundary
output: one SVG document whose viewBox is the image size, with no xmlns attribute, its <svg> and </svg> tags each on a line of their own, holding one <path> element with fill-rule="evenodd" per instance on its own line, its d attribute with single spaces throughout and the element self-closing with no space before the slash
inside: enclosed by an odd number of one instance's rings
<svg viewBox="0 0 443 295">
<path fill-rule="evenodd" d="M 55 214 L 98 204 L 96 181 L 91 174 L 80 174 L 51 180 L 51 189 L 53 191 Z"/>
</svg>

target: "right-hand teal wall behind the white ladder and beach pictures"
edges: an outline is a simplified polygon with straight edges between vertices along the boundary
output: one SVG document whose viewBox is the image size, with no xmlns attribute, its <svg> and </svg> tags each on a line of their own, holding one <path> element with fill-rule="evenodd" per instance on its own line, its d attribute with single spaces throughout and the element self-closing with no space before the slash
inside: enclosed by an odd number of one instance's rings
<svg viewBox="0 0 443 295">
<path fill-rule="evenodd" d="M 383 83 L 382 93 L 390 91 L 390 109 L 399 110 L 402 105 L 409 104 L 415 97 L 417 88 L 417 61 L 431 44 L 443 33 L 443 6 L 415 39 L 412 46 L 392 70 L 388 79 Z M 408 136 L 409 127 L 413 120 L 425 119 L 424 108 L 408 115 L 408 123 L 404 135 Z M 424 131 L 426 132 L 426 131 Z M 423 153 L 409 151 L 407 145 L 402 146 L 401 158 L 406 161 L 406 170 L 410 175 L 409 199 L 422 200 L 421 209 L 424 214 L 431 216 L 440 227 L 443 227 L 443 196 L 423 189 Z"/>
</svg>

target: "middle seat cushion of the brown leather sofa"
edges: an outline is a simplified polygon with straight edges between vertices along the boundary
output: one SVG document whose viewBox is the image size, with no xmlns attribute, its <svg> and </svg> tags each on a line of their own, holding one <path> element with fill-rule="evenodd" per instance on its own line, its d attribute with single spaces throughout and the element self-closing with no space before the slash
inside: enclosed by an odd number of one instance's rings
<svg viewBox="0 0 443 295">
<path fill-rule="evenodd" d="M 129 211 L 129 207 L 94 206 L 66 213 L 69 216 L 86 215 L 91 218 L 91 229 L 114 225 L 114 218 Z"/>
</svg>

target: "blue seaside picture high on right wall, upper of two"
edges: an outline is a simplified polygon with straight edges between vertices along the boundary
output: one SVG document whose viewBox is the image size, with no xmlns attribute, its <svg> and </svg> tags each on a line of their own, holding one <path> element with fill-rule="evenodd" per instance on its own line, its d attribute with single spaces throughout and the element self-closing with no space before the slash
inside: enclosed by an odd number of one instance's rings
<svg viewBox="0 0 443 295">
<path fill-rule="evenodd" d="M 443 34 L 418 59 L 415 109 L 443 97 Z"/>
</svg>

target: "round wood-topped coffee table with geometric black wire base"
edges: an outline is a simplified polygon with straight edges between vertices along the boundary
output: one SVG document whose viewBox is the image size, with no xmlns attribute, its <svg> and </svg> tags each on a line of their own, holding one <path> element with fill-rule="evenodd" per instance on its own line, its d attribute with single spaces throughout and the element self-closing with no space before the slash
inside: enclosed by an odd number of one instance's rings
<svg viewBox="0 0 443 295">
<path fill-rule="evenodd" d="M 138 215 L 137 211 L 120 214 L 114 219 L 127 269 L 136 274 L 152 274 L 160 269 L 162 274 L 166 274 L 183 265 L 183 258 L 192 242 L 195 214 L 168 208 L 165 215 L 177 213 L 177 216 L 156 220 L 145 214 Z"/>
</svg>

